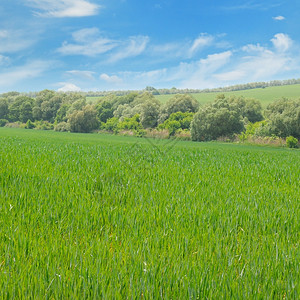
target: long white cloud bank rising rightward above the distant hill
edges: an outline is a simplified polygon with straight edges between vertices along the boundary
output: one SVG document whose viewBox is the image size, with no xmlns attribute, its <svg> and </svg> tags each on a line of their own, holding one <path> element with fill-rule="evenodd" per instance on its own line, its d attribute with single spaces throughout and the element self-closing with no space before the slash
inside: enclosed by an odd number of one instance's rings
<svg viewBox="0 0 300 300">
<path fill-rule="evenodd" d="M 248 44 L 200 60 L 181 62 L 171 68 L 122 72 L 117 76 L 122 79 L 122 87 L 126 89 L 141 89 L 147 85 L 204 89 L 299 74 L 299 49 L 292 39 L 285 34 L 276 34 L 271 42 L 268 47 Z"/>
</svg>

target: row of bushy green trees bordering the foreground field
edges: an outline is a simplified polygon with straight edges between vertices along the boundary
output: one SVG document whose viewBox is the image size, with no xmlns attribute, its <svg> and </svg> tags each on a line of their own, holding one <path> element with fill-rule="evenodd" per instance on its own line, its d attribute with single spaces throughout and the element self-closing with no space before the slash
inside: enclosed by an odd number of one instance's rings
<svg viewBox="0 0 300 300">
<path fill-rule="evenodd" d="M 165 133 L 194 141 L 220 137 L 293 136 L 300 139 L 300 100 L 280 99 L 263 110 L 259 101 L 220 94 L 206 105 L 189 94 L 162 104 L 151 90 L 88 102 L 79 93 L 43 90 L 29 97 L 11 92 L 0 98 L 0 126 L 143 136 Z"/>
</svg>

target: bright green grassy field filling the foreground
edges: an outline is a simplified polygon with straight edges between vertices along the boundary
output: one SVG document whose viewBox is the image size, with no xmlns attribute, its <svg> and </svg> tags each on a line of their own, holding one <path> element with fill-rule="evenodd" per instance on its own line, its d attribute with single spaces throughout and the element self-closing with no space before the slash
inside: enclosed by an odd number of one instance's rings
<svg viewBox="0 0 300 300">
<path fill-rule="evenodd" d="M 300 152 L 0 128 L 1 299 L 299 299 Z"/>
</svg>

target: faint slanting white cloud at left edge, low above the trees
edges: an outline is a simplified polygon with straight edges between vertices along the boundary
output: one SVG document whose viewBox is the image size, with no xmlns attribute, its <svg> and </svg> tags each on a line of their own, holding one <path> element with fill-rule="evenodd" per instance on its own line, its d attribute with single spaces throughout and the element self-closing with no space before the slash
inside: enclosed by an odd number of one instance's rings
<svg viewBox="0 0 300 300">
<path fill-rule="evenodd" d="M 23 66 L 17 66 L 0 72 L 0 88 L 14 86 L 18 82 L 36 78 L 48 70 L 53 62 L 36 60 Z"/>
</svg>

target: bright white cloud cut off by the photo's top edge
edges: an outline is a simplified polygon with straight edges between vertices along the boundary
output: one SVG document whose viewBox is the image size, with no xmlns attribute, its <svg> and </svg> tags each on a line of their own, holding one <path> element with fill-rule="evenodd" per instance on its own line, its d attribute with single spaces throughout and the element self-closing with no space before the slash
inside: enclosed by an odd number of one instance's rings
<svg viewBox="0 0 300 300">
<path fill-rule="evenodd" d="M 86 17 L 96 15 L 100 5 L 87 0 L 27 0 L 27 5 L 38 9 L 42 17 Z"/>
</svg>

